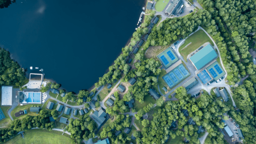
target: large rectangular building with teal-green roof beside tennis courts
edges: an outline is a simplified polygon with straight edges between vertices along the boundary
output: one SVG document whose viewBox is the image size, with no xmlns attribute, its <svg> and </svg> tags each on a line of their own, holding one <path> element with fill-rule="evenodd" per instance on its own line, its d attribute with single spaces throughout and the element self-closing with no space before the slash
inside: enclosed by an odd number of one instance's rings
<svg viewBox="0 0 256 144">
<path fill-rule="evenodd" d="M 214 51 L 212 46 L 208 44 L 196 54 L 192 55 L 189 59 L 196 69 L 199 70 L 217 57 L 217 53 Z"/>
</svg>

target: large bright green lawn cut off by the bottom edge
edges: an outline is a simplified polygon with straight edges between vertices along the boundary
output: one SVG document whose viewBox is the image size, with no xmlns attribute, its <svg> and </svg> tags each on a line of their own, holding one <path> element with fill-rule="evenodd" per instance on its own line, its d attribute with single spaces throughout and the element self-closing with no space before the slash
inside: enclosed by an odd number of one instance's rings
<svg viewBox="0 0 256 144">
<path fill-rule="evenodd" d="M 40 133 L 40 135 L 38 135 Z M 8 144 L 69 144 L 72 143 L 72 138 L 69 135 L 62 135 L 61 131 L 49 131 L 46 129 L 31 129 L 25 132 L 24 138 L 20 135 L 17 135 L 7 141 Z"/>
</svg>

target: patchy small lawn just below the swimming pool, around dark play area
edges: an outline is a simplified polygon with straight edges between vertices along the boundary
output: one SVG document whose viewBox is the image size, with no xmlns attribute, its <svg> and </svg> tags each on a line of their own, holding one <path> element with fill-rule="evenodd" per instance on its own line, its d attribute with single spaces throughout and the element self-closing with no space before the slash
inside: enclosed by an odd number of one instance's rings
<svg viewBox="0 0 256 144">
<path fill-rule="evenodd" d="M 14 108 L 14 110 L 11 112 L 11 116 L 14 120 L 17 120 L 17 119 L 22 119 L 24 117 L 26 117 L 27 115 L 30 115 L 30 116 L 37 116 L 39 114 L 37 114 L 36 112 L 30 112 L 30 107 L 31 106 L 39 106 L 39 107 L 42 107 L 43 104 L 26 104 L 26 105 L 18 105 L 16 108 Z M 19 112 L 20 110 L 27 110 L 27 114 L 25 115 L 21 115 L 19 117 L 15 117 L 15 113 Z"/>
</svg>

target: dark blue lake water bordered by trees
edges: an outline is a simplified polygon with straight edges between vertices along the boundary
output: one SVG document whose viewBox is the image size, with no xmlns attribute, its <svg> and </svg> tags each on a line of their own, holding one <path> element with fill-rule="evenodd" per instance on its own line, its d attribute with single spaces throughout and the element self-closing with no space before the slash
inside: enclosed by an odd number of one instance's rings
<svg viewBox="0 0 256 144">
<path fill-rule="evenodd" d="M 22 3 L 21 3 L 22 2 Z M 17 0 L 0 9 L 0 46 L 68 91 L 89 89 L 121 53 L 144 0 Z"/>
</svg>

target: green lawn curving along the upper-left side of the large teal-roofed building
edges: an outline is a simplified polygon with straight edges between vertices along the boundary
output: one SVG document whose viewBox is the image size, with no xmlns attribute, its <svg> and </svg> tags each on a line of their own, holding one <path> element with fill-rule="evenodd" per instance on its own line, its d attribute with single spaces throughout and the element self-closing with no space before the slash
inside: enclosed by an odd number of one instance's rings
<svg viewBox="0 0 256 144">
<path fill-rule="evenodd" d="M 212 46 L 214 46 L 213 42 L 207 36 L 207 34 L 200 29 L 185 40 L 185 43 L 182 44 L 179 48 L 179 53 L 187 61 L 187 55 L 198 49 L 201 45 L 203 45 L 206 42 L 209 42 Z M 191 44 L 187 46 L 189 43 Z M 187 46 L 187 48 L 184 48 L 185 46 Z"/>
</svg>

